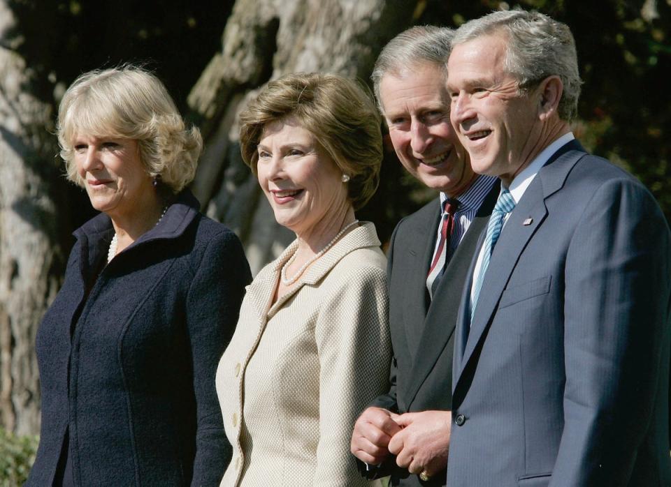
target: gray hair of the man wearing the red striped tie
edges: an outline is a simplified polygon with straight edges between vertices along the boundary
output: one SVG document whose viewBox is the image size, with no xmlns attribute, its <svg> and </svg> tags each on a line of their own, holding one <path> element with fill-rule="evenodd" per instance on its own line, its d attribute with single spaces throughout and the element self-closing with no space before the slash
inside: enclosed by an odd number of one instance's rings
<svg viewBox="0 0 671 487">
<path fill-rule="evenodd" d="M 370 75 L 377 106 L 382 114 L 380 83 L 384 75 L 399 76 L 405 70 L 429 63 L 440 68 L 447 80 L 447 59 L 453 36 L 454 30 L 447 27 L 415 26 L 401 32 L 384 46 Z"/>
</svg>

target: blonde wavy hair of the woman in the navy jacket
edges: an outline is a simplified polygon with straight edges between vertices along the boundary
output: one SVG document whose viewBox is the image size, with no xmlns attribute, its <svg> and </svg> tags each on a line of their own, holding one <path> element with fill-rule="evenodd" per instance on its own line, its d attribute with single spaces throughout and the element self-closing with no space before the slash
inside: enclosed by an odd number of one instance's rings
<svg viewBox="0 0 671 487">
<path fill-rule="evenodd" d="M 93 70 L 68 88 L 58 109 L 57 135 L 68 179 L 84 180 L 74 163 L 78 134 L 134 139 L 147 173 L 173 193 L 194 179 L 203 149 L 198 128 L 187 128 L 161 81 L 133 65 Z"/>
</svg>

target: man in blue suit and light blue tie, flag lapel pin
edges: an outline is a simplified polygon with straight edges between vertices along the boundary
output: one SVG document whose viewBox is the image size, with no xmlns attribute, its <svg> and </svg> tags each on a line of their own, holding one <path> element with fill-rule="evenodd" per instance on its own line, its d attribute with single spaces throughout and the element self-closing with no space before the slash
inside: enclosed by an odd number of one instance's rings
<svg viewBox="0 0 671 487">
<path fill-rule="evenodd" d="M 456 324 L 450 486 L 669 486 L 670 233 L 651 194 L 590 156 L 565 24 L 463 24 L 451 118 L 502 187 Z"/>
</svg>

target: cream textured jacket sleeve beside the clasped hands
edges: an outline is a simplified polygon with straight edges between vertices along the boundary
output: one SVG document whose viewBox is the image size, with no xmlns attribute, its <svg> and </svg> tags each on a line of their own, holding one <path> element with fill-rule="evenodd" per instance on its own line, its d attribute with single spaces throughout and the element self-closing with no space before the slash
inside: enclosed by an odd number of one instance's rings
<svg viewBox="0 0 671 487">
<path fill-rule="evenodd" d="M 334 269 L 335 270 L 335 269 Z M 349 453 L 354 421 L 387 389 L 391 347 L 384 271 L 358 267 L 331 287 L 315 325 L 319 444 L 315 486 L 365 486 Z"/>
</svg>

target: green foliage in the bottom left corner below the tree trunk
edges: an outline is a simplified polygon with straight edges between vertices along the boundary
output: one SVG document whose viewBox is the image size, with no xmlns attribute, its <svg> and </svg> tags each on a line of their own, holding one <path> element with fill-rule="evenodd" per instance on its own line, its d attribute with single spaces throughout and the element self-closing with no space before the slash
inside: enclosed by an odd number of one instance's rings
<svg viewBox="0 0 671 487">
<path fill-rule="evenodd" d="M 17 436 L 0 428 L 0 487 L 16 487 L 28 479 L 38 438 Z"/>
</svg>

